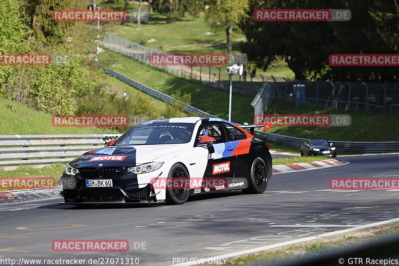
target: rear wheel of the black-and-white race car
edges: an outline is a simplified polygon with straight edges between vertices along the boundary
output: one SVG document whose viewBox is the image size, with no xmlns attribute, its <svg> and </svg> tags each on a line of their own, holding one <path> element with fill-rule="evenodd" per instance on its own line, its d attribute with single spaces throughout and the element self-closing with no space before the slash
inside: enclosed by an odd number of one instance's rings
<svg viewBox="0 0 399 266">
<path fill-rule="evenodd" d="M 265 161 L 257 157 L 252 162 L 251 176 L 249 181 L 249 187 L 243 189 L 242 192 L 245 194 L 262 194 L 268 183 L 267 167 Z"/>
</svg>

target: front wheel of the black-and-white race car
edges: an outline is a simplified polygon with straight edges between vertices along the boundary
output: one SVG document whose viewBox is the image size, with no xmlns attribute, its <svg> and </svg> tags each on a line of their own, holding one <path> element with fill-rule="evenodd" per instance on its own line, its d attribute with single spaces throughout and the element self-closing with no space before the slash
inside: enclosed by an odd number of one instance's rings
<svg viewBox="0 0 399 266">
<path fill-rule="evenodd" d="M 173 178 L 180 178 L 180 179 L 189 179 L 189 173 L 184 167 L 183 164 L 177 163 L 171 167 L 171 170 L 168 174 L 168 180 Z M 168 182 L 169 184 L 169 182 Z M 184 204 L 190 195 L 190 188 L 184 189 L 167 189 L 166 190 L 166 204 L 168 205 L 178 205 Z"/>
</svg>

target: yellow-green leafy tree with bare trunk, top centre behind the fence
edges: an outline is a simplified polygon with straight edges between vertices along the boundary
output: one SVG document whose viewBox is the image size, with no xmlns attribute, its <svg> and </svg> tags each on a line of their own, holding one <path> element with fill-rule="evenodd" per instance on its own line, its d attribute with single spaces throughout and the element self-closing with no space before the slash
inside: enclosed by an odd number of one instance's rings
<svg viewBox="0 0 399 266">
<path fill-rule="evenodd" d="M 224 26 L 227 40 L 227 58 L 231 58 L 231 37 L 234 26 L 246 17 L 248 0 L 211 0 L 208 1 L 206 19 L 213 28 Z"/>
</svg>

